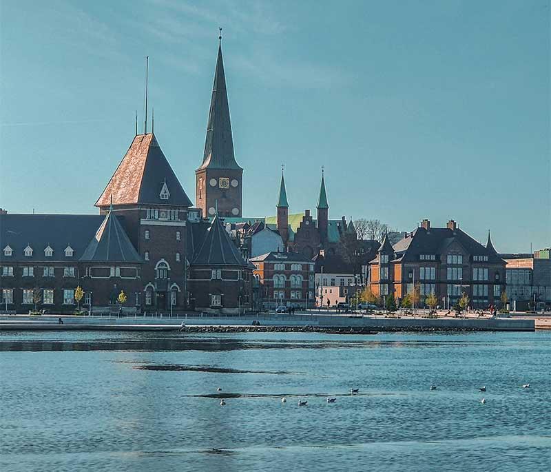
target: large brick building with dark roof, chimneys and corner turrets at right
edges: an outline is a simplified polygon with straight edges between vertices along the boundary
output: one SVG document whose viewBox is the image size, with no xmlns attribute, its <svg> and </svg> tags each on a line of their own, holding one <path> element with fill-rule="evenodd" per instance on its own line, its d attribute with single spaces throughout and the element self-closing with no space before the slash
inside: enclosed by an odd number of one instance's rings
<svg viewBox="0 0 551 472">
<path fill-rule="evenodd" d="M 446 227 L 421 227 L 391 245 L 384 238 L 369 263 L 373 294 L 392 294 L 398 301 L 419 284 L 421 298 L 435 294 L 439 305 L 453 306 L 466 293 L 472 307 L 499 306 L 505 291 L 505 261 L 495 251 L 490 233 L 486 246 L 459 229 L 454 220 Z"/>
</svg>

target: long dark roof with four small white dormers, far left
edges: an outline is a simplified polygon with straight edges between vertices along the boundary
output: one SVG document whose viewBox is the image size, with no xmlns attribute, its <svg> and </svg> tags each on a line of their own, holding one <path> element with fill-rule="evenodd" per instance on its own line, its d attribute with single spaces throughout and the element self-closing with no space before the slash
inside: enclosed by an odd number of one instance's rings
<svg viewBox="0 0 551 472">
<path fill-rule="evenodd" d="M 105 217 L 103 215 L 60 214 L 0 214 L 0 260 L 79 260 L 90 239 Z M 12 256 L 4 256 L 3 248 L 13 249 Z M 32 256 L 23 251 L 29 245 Z M 52 247 L 52 257 L 45 257 L 44 249 Z M 65 248 L 73 249 L 73 256 L 65 256 Z"/>
</svg>

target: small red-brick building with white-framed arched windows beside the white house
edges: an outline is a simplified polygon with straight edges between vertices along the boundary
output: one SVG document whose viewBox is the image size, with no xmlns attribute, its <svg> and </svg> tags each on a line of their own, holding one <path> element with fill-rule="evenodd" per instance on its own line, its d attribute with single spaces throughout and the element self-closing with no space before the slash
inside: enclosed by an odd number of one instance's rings
<svg viewBox="0 0 551 472">
<path fill-rule="evenodd" d="M 315 303 L 314 263 L 294 252 L 269 252 L 251 258 L 259 287 L 258 307 L 310 308 Z"/>
</svg>

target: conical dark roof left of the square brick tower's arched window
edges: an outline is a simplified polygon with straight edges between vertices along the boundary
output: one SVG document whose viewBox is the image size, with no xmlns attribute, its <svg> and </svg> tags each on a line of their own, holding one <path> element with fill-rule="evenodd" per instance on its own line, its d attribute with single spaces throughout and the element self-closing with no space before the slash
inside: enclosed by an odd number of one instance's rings
<svg viewBox="0 0 551 472">
<path fill-rule="evenodd" d="M 88 243 L 82 261 L 143 263 L 114 212 L 110 210 Z"/>
</svg>

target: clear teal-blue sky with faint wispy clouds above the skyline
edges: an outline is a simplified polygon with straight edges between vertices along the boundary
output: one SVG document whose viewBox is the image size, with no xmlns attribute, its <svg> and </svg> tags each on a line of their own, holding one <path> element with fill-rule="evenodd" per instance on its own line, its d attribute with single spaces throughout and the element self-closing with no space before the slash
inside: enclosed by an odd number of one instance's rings
<svg viewBox="0 0 551 472">
<path fill-rule="evenodd" d="M 0 207 L 96 213 L 143 123 L 190 198 L 218 27 L 243 214 L 412 230 L 422 218 L 500 252 L 551 246 L 550 1 L 0 3 Z M 143 125 L 141 124 L 141 129 Z"/>
</svg>

